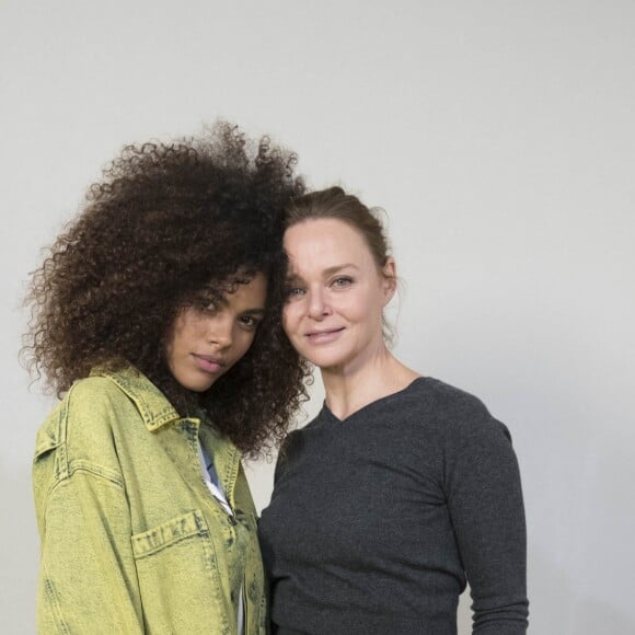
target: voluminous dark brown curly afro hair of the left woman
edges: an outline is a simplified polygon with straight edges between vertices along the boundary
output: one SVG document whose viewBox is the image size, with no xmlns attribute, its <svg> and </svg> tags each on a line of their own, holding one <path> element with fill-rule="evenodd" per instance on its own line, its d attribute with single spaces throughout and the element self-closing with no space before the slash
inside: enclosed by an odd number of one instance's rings
<svg viewBox="0 0 635 635">
<path fill-rule="evenodd" d="M 61 396 L 94 367 L 143 372 L 182 415 L 203 407 L 247 455 L 284 438 L 309 374 L 285 336 L 284 209 L 297 158 L 217 122 L 197 138 L 127 146 L 32 276 L 27 368 Z M 256 273 L 267 311 L 247 354 L 205 393 L 168 369 L 166 338 L 197 293 Z"/>
</svg>

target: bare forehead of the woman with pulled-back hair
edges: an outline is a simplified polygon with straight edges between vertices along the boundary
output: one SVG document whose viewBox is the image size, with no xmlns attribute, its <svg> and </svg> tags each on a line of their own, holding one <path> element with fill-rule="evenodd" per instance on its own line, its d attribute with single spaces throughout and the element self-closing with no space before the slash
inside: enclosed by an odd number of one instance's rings
<svg viewBox="0 0 635 635">
<path fill-rule="evenodd" d="M 285 232 L 285 250 L 293 268 L 331 267 L 344 263 L 373 264 L 372 254 L 358 230 L 342 220 L 312 219 Z"/>
</svg>

